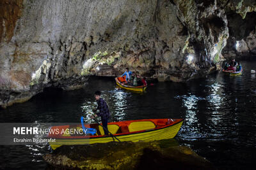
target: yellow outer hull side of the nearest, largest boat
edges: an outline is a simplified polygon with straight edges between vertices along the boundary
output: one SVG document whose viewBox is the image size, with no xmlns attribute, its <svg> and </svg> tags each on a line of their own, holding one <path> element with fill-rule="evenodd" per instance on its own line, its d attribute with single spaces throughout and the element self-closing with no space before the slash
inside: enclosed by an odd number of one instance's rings
<svg viewBox="0 0 256 170">
<path fill-rule="evenodd" d="M 183 123 L 183 120 L 175 122 L 172 125 L 166 125 L 163 128 L 148 129 L 147 131 L 132 132 L 132 133 L 123 133 L 123 134 L 114 134 L 116 138 L 122 141 L 154 141 L 162 139 L 172 139 L 179 132 L 179 129 Z M 117 141 L 111 136 L 99 136 L 98 138 L 55 138 L 55 142 L 49 142 L 51 148 L 55 150 L 61 145 L 86 145 L 93 143 L 108 143 L 111 141 Z"/>
</svg>

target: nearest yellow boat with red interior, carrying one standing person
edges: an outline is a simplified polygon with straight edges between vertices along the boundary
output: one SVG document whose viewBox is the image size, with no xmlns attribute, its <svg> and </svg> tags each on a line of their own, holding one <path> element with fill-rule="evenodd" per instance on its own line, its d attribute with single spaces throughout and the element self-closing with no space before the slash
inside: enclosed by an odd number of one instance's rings
<svg viewBox="0 0 256 170">
<path fill-rule="evenodd" d="M 174 138 L 179 132 L 182 122 L 183 119 L 171 118 L 129 120 L 108 123 L 108 130 L 121 142 L 154 141 Z M 103 128 L 99 124 L 87 124 L 85 127 L 94 128 L 97 130 L 97 133 L 93 136 L 84 134 L 81 124 L 51 127 L 50 132 L 52 133 L 48 134 L 48 138 L 55 139 L 55 141 L 51 140 L 49 142 L 52 150 L 55 150 L 61 145 L 86 145 L 117 141 L 113 136 L 104 135 Z M 58 133 L 56 133 L 56 130 L 58 130 Z M 82 133 L 70 133 L 76 130 L 80 130 L 79 132 Z"/>
</svg>

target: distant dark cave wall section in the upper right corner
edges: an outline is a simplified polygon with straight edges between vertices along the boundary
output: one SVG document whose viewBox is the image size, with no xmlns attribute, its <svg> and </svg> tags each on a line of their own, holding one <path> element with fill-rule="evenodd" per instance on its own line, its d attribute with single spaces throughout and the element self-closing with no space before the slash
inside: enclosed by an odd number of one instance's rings
<svg viewBox="0 0 256 170">
<path fill-rule="evenodd" d="M 223 56 L 230 59 L 256 57 L 256 1 L 227 1 L 229 38 Z"/>
</svg>

